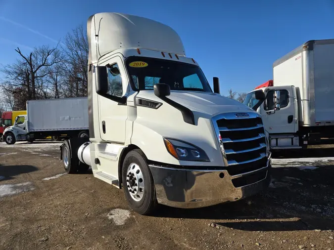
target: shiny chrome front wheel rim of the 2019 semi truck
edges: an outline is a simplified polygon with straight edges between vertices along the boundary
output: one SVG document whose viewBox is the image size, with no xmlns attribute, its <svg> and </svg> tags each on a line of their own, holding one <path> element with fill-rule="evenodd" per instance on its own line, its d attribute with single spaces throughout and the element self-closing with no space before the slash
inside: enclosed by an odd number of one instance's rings
<svg viewBox="0 0 334 250">
<path fill-rule="evenodd" d="M 142 200 L 144 195 L 144 177 L 142 169 L 136 163 L 130 164 L 127 169 L 126 185 L 133 200 L 136 202 Z"/>
</svg>

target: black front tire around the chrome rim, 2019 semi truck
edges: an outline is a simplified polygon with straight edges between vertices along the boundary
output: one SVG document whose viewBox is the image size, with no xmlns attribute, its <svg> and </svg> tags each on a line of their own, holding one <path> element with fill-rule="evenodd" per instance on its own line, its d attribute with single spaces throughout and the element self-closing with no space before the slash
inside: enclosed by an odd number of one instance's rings
<svg viewBox="0 0 334 250">
<path fill-rule="evenodd" d="M 130 165 L 132 164 L 137 164 L 143 174 L 144 190 L 143 196 L 140 201 L 135 201 L 128 190 L 127 171 L 128 167 L 130 167 Z M 146 157 L 141 150 L 135 149 L 130 151 L 126 155 L 122 167 L 122 183 L 124 188 L 124 194 L 130 208 L 132 208 L 139 214 L 147 215 L 153 213 L 154 209 L 157 207 L 154 181 L 152 174 L 148 168 Z"/>
</svg>

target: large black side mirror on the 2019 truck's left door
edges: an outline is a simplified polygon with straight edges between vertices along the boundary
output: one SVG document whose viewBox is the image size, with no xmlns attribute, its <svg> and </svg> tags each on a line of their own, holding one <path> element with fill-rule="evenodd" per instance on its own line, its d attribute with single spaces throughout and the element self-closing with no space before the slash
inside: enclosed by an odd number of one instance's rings
<svg viewBox="0 0 334 250">
<path fill-rule="evenodd" d="M 120 72 L 117 69 L 113 69 L 110 71 L 112 75 L 119 75 Z M 111 94 L 108 94 L 108 67 L 106 66 L 96 66 L 95 67 L 95 74 L 96 74 L 96 82 L 95 82 L 95 88 L 96 93 L 108 98 L 109 100 L 125 104 L 126 103 L 126 97 L 118 97 Z"/>
</svg>

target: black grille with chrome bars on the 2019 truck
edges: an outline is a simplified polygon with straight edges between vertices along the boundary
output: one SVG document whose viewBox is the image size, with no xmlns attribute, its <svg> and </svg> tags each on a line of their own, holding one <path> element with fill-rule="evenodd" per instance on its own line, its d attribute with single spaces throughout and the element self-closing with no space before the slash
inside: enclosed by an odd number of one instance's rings
<svg viewBox="0 0 334 250">
<path fill-rule="evenodd" d="M 230 175 L 258 170 L 267 165 L 267 149 L 262 119 L 256 113 L 237 118 L 236 113 L 222 114 L 215 122 Z"/>
</svg>

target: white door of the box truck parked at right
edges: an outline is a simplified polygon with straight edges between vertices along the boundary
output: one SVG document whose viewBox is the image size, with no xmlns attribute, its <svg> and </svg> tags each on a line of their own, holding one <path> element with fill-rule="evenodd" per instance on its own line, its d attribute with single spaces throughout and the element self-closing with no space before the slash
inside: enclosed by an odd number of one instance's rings
<svg viewBox="0 0 334 250">
<path fill-rule="evenodd" d="M 263 124 L 269 134 L 295 133 L 298 129 L 298 111 L 293 86 L 268 87 L 266 100 L 261 105 Z M 275 107 L 275 90 L 280 90 L 279 107 Z"/>
</svg>

